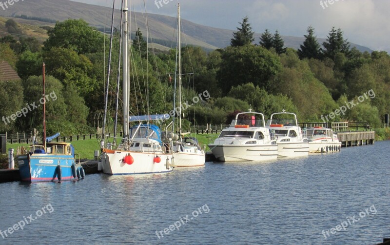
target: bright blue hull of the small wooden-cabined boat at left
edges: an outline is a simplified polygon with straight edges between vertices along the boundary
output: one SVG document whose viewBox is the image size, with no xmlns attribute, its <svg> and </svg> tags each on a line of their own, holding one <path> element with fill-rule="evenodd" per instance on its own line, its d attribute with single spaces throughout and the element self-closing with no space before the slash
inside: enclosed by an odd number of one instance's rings
<svg viewBox="0 0 390 245">
<path fill-rule="evenodd" d="M 75 180 L 71 170 L 72 164 L 75 163 L 73 156 L 33 154 L 20 155 L 16 160 L 19 164 L 20 179 L 23 182 L 59 181 L 58 166 L 61 169 L 61 181 Z"/>
</svg>

